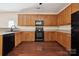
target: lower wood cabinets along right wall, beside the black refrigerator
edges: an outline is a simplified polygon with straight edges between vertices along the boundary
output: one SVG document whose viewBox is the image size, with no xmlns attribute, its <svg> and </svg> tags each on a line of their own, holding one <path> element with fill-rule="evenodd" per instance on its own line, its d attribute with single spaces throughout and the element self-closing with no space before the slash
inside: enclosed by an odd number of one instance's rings
<svg viewBox="0 0 79 59">
<path fill-rule="evenodd" d="M 59 44 L 61 44 L 67 51 L 71 50 L 71 34 L 57 32 L 57 40 Z"/>
</svg>

